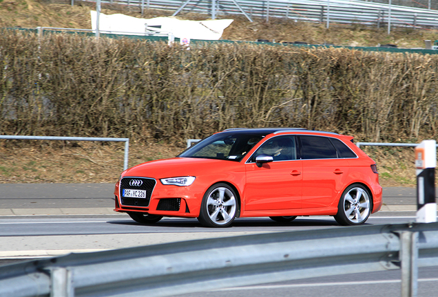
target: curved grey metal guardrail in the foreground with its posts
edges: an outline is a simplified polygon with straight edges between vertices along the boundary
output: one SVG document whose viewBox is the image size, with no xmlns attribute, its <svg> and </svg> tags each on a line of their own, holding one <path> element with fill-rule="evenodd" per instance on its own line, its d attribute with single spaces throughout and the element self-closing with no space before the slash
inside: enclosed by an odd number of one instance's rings
<svg viewBox="0 0 438 297">
<path fill-rule="evenodd" d="M 421 240 L 419 240 L 421 238 Z M 438 265 L 438 223 L 368 225 L 69 254 L 0 267 L 0 297 L 172 296 L 317 276 Z"/>
</svg>

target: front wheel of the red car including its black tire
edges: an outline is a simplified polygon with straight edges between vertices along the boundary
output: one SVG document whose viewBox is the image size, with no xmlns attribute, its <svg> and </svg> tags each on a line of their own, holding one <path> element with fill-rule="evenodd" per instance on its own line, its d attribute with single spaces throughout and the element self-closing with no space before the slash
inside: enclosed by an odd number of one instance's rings
<svg viewBox="0 0 438 297">
<path fill-rule="evenodd" d="M 228 227 L 239 212 L 238 196 L 227 184 L 214 184 L 202 197 L 198 221 L 205 227 Z"/>
</svg>

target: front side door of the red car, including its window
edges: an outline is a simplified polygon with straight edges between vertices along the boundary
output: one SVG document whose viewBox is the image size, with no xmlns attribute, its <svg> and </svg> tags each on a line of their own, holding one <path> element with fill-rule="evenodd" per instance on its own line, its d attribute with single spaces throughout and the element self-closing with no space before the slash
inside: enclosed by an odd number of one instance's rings
<svg viewBox="0 0 438 297">
<path fill-rule="evenodd" d="M 287 147 L 277 153 L 270 147 L 274 141 L 283 142 Z M 296 149 L 295 137 L 283 135 L 271 137 L 251 156 L 245 164 L 245 211 L 301 208 L 302 161 L 297 159 Z M 273 162 L 255 164 L 255 157 L 262 153 L 271 155 Z"/>
</svg>

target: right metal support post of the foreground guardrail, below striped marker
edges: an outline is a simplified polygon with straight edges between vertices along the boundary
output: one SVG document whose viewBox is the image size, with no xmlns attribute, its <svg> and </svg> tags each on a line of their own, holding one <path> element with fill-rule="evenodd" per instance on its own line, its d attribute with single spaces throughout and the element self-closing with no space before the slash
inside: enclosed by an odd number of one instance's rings
<svg viewBox="0 0 438 297">
<path fill-rule="evenodd" d="M 418 232 L 400 233 L 401 297 L 416 297 L 418 288 Z"/>
</svg>

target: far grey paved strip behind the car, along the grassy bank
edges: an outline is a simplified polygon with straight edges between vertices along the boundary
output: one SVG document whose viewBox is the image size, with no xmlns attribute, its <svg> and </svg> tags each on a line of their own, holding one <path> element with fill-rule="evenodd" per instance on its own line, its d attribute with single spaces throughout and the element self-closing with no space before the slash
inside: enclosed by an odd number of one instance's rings
<svg viewBox="0 0 438 297">
<path fill-rule="evenodd" d="M 111 214 L 114 184 L 0 184 L 0 216 Z M 415 210 L 415 188 L 384 188 L 382 210 Z"/>
</svg>

